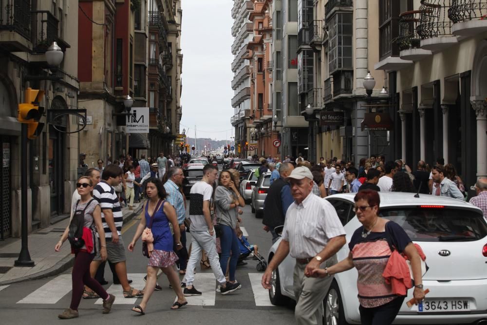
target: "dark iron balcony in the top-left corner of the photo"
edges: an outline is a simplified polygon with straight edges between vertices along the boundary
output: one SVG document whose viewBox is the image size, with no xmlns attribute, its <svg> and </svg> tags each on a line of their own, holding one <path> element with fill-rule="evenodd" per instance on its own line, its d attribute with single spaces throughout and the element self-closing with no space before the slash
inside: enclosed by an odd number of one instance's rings
<svg viewBox="0 0 487 325">
<path fill-rule="evenodd" d="M 31 48 L 30 0 L 0 1 L 0 45 L 8 52 Z"/>
</svg>

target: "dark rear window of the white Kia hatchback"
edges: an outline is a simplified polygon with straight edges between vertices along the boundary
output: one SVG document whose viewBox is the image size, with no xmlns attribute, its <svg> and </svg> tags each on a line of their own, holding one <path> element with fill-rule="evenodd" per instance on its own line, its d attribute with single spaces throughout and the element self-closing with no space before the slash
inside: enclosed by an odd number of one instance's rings
<svg viewBox="0 0 487 325">
<path fill-rule="evenodd" d="M 393 220 L 408 236 L 419 242 L 475 241 L 487 235 L 483 215 L 455 208 L 381 209 L 379 215 Z"/>
</svg>

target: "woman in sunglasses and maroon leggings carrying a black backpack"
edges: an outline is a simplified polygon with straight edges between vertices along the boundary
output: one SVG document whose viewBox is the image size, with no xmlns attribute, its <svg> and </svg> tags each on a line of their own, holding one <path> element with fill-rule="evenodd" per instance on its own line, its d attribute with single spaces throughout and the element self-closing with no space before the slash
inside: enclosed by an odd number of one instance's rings
<svg viewBox="0 0 487 325">
<path fill-rule="evenodd" d="M 75 254 L 75 265 L 72 271 L 72 281 L 73 281 L 73 291 L 71 294 L 71 306 L 64 310 L 62 314 L 57 317 L 61 319 L 71 319 L 78 317 L 78 306 L 81 301 L 81 296 L 83 295 L 83 289 L 86 285 L 96 292 L 100 297 L 103 298 L 103 313 L 108 314 L 112 309 L 113 302 L 115 301 L 115 296 L 108 294 L 107 291 L 94 280 L 90 275 L 90 263 L 93 261 L 96 249 L 100 250 L 101 259 L 105 261 L 107 259 L 107 246 L 105 243 L 105 231 L 103 230 L 101 222 L 101 209 L 100 205 L 92 197 L 93 183 L 88 176 L 82 176 L 78 179 L 76 183 L 76 189 L 81 199 L 74 203 L 74 212 L 84 210 L 84 224 L 83 230 L 89 229 L 91 232 L 91 238 L 96 238 L 94 236 L 94 231 L 100 235 L 100 247 L 97 247 L 96 240 L 93 240 L 93 248 L 90 250 L 85 246 L 80 249 L 72 249 Z M 56 244 L 54 248 L 56 251 L 61 249 L 62 244 L 68 238 L 69 226 L 66 227 L 61 239 Z M 83 236 L 84 237 L 84 236 Z"/>
</svg>

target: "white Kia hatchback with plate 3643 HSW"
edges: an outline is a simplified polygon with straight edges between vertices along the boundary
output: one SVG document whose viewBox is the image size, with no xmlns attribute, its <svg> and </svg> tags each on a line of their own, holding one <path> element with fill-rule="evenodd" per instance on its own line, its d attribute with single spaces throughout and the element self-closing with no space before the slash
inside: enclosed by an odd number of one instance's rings
<svg viewBox="0 0 487 325">
<path fill-rule="evenodd" d="M 337 210 L 347 243 L 361 226 L 355 217 L 354 193 L 325 198 Z M 426 254 L 429 270 L 423 276 L 430 289 L 419 306 L 406 306 L 412 289 L 394 324 L 487 324 L 487 223 L 482 210 L 466 202 L 440 196 L 414 193 L 380 192 L 379 215 L 398 223 Z M 270 249 L 268 261 L 281 239 Z M 349 254 L 348 244 L 337 253 L 338 261 Z M 281 305 L 295 299 L 293 269 L 295 261 L 287 256 L 272 275 L 269 298 Z M 352 268 L 335 275 L 323 301 L 326 325 L 360 324 L 357 299 L 357 271 Z M 478 323 L 479 321 L 482 321 Z"/>
</svg>

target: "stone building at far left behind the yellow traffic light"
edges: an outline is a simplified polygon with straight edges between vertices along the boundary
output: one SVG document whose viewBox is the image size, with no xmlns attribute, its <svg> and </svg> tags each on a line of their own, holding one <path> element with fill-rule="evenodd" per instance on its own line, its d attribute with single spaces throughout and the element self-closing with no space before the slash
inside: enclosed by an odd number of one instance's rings
<svg viewBox="0 0 487 325">
<path fill-rule="evenodd" d="M 78 8 L 61 0 L 7 0 L 0 6 L 0 238 L 20 236 L 20 166 L 28 164 L 28 231 L 71 210 L 78 164 L 77 118 L 58 115 L 78 106 Z M 55 69 L 46 51 L 56 41 L 64 58 Z M 18 104 L 26 88 L 45 92 L 42 132 L 20 153 Z M 57 113 L 56 113 L 57 110 Z M 47 116 L 46 116 L 47 115 Z M 67 199 L 68 198 L 68 199 Z"/>
</svg>

